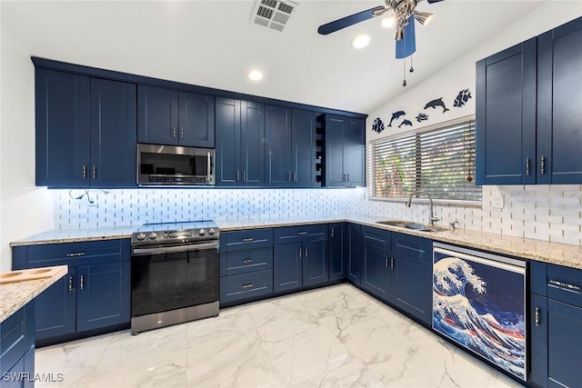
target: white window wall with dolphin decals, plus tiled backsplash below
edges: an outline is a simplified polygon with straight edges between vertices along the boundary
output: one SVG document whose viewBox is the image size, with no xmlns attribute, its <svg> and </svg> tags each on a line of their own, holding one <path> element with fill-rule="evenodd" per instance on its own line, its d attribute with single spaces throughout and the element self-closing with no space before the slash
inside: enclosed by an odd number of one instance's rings
<svg viewBox="0 0 582 388">
<path fill-rule="evenodd" d="M 497 5 L 501 10 L 502 3 Z M 403 126 L 400 130 L 397 127 L 387 128 L 381 134 L 372 132 L 372 124 L 376 117 L 382 118 L 387 125 L 391 114 L 396 111 L 406 112 L 406 118 L 413 122 L 412 130 L 475 114 L 475 63 L 479 59 L 511 45 L 517 45 L 580 15 L 582 15 L 580 1 L 547 2 L 533 13 L 517 20 L 506 30 L 500 31 L 498 35 L 492 36 L 484 44 L 478 45 L 467 55 L 458 58 L 426 82 L 406 86 L 405 93 L 369 114 L 366 123 L 368 143 L 390 134 L 411 130 L 410 127 Z M 466 106 L 454 107 L 454 98 L 465 88 L 470 89 L 473 98 Z M 424 110 L 428 101 L 441 96 L 445 97 L 444 101 L 450 111 L 443 114 L 440 108 Z M 414 119 L 420 112 L 428 114 L 428 120 L 422 124 L 418 124 Z M 401 121 L 402 118 L 399 122 Z M 503 209 L 492 207 L 495 196 L 504 197 Z M 582 185 L 484 186 L 482 206 L 437 206 L 436 214 L 442 217 L 443 224 L 457 220 L 467 229 L 579 245 L 582 244 L 582 213 L 579 211 L 581 206 Z M 427 221 L 426 204 L 416 204 L 412 209 L 406 209 L 402 202 L 367 199 L 365 208 L 369 214 L 381 214 L 396 219 L 412 218 L 418 222 Z"/>
</svg>

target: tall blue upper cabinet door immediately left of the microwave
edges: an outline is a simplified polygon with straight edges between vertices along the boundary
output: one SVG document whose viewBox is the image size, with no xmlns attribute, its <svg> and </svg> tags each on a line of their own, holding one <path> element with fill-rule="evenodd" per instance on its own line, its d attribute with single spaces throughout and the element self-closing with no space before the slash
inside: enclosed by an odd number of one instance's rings
<svg viewBox="0 0 582 388">
<path fill-rule="evenodd" d="M 134 84 L 91 78 L 91 186 L 135 186 Z"/>
</svg>

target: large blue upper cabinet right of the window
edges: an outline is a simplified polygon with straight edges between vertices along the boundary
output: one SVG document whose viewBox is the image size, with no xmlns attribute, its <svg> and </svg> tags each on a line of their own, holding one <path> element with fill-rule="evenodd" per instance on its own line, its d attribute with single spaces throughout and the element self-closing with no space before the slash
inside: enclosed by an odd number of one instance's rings
<svg viewBox="0 0 582 388">
<path fill-rule="evenodd" d="M 477 62 L 477 184 L 582 183 L 582 18 Z"/>
</svg>

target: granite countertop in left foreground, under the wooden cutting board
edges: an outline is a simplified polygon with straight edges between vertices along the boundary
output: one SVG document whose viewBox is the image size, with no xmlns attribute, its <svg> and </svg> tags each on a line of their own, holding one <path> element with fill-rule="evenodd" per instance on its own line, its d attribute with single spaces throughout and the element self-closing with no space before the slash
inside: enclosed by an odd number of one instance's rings
<svg viewBox="0 0 582 388">
<path fill-rule="evenodd" d="M 48 278 L 0 284 L 0 323 L 65 276 L 68 269 L 66 265 L 62 265 L 62 267 L 64 267 L 62 271 L 58 271 Z"/>
</svg>

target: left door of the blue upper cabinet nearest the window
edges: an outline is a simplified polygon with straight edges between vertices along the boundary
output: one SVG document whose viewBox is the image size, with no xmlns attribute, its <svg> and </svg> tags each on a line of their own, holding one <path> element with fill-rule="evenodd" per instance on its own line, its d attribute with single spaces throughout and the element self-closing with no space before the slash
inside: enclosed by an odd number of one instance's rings
<svg viewBox="0 0 582 388">
<path fill-rule="evenodd" d="M 346 185 L 344 174 L 345 117 L 326 114 L 326 186 Z"/>
</svg>

